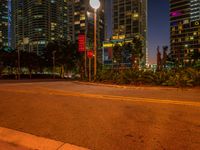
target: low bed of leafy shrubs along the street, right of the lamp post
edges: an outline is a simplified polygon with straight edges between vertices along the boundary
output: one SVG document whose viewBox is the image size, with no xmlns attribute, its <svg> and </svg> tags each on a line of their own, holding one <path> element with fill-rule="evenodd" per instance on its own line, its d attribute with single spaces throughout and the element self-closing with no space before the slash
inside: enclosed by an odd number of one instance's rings
<svg viewBox="0 0 200 150">
<path fill-rule="evenodd" d="M 154 72 L 138 69 L 104 69 L 98 72 L 95 81 L 118 85 L 194 87 L 200 86 L 200 70 L 183 68 Z"/>
</svg>

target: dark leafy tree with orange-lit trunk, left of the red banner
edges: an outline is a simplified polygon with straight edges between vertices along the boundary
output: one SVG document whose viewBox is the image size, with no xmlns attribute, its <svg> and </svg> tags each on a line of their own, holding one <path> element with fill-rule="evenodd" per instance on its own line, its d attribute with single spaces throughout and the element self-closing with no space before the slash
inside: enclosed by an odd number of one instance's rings
<svg viewBox="0 0 200 150">
<path fill-rule="evenodd" d="M 83 55 L 78 52 L 78 44 L 63 39 L 49 42 L 44 50 L 43 57 L 46 65 L 52 67 L 53 55 L 55 65 L 60 67 L 60 76 L 64 78 L 65 70 L 81 71 L 83 67 Z"/>
</svg>

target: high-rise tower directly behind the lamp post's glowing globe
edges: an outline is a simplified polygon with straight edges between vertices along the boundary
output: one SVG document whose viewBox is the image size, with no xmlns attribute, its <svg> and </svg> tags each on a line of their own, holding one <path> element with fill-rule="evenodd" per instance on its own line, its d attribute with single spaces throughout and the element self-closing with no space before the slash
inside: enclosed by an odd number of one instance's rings
<svg viewBox="0 0 200 150">
<path fill-rule="evenodd" d="M 102 41 L 105 38 L 105 0 L 100 0 L 101 6 L 97 10 L 97 57 L 101 62 Z M 90 7 L 89 0 L 69 1 L 69 34 L 72 41 L 78 40 L 79 34 L 86 35 L 87 49 L 93 49 L 94 39 L 94 10 Z"/>
</svg>

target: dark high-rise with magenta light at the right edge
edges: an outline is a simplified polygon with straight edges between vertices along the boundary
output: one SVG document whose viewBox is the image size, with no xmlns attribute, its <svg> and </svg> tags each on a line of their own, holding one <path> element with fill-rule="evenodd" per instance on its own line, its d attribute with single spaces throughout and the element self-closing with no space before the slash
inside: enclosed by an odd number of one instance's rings
<svg viewBox="0 0 200 150">
<path fill-rule="evenodd" d="M 175 62 L 200 60 L 200 0 L 170 0 L 171 51 Z"/>
</svg>

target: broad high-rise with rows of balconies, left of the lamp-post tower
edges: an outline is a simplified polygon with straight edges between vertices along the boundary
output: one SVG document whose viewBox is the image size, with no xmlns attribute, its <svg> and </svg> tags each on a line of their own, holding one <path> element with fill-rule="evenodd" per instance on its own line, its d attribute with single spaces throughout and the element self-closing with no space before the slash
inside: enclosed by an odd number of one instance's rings
<svg viewBox="0 0 200 150">
<path fill-rule="evenodd" d="M 42 53 L 49 41 L 69 39 L 68 0 L 14 0 L 13 47 Z"/>
</svg>

